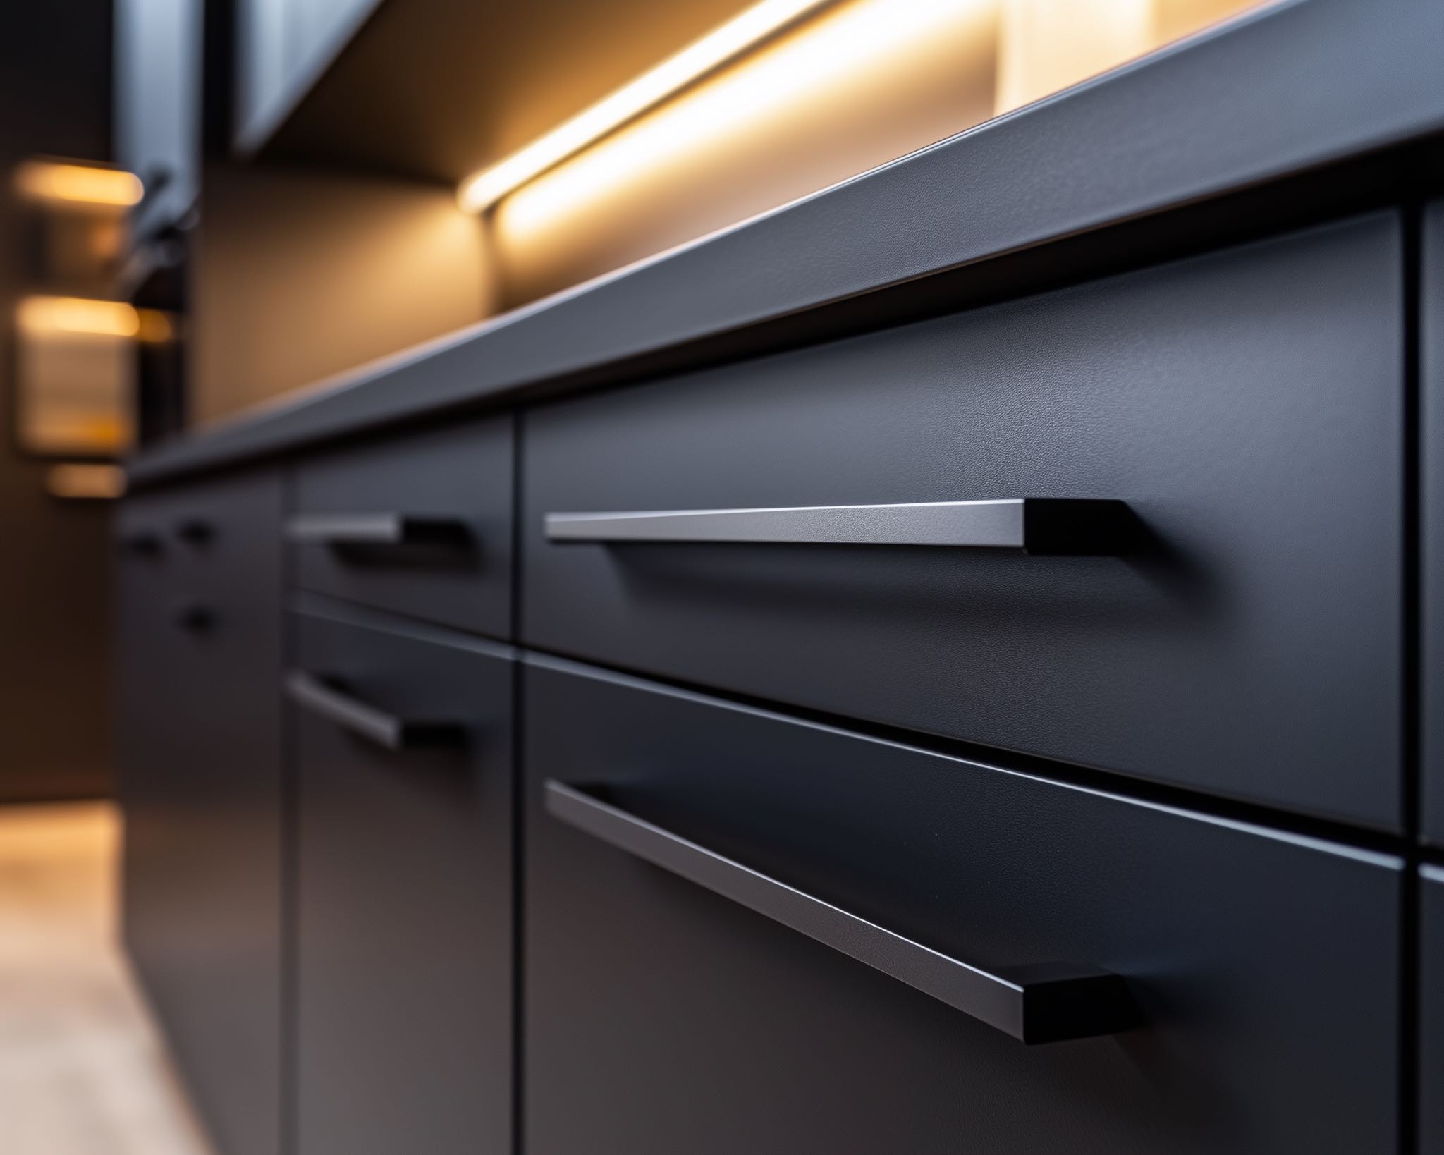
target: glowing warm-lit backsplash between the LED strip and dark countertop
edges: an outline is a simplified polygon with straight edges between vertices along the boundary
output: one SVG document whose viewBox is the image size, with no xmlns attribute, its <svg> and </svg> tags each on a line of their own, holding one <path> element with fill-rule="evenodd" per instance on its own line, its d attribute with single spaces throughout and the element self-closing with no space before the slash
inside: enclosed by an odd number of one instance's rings
<svg viewBox="0 0 1444 1155">
<path fill-rule="evenodd" d="M 497 267 L 511 303 L 536 300 L 1265 1 L 838 0 L 544 170 L 518 167 L 485 189 L 478 204 L 505 192 L 488 232 Z"/>
</svg>

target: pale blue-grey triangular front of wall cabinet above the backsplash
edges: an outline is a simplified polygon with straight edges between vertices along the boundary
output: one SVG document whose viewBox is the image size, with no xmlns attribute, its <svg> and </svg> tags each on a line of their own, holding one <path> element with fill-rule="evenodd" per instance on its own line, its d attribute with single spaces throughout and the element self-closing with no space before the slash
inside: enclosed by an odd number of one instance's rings
<svg viewBox="0 0 1444 1155">
<path fill-rule="evenodd" d="M 378 0 L 238 0 L 235 143 L 253 152 L 326 71 Z"/>
</svg>

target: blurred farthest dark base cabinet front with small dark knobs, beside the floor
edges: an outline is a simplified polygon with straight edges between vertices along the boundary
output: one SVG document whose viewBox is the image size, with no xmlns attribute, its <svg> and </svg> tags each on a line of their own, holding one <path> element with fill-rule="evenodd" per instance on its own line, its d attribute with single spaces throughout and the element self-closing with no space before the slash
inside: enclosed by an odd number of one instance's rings
<svg viewBox="0 0 1444 1155">
<path fill-rule="evenodd" d="M 282 1038 L 282 484 L 121 513 L 124 937 L 221 1155 L 276 1155 Z"/>
</svg>

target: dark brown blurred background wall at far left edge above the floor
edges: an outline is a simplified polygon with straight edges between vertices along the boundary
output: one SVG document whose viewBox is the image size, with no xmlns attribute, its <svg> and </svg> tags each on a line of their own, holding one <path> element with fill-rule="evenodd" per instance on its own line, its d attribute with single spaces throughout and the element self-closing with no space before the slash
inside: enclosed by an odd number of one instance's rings
<svg viewBox="0 0 1444 1155">
<path fill-rule="evenodd" d="M 0 309 L 29 287 L 33 238 L 10 173 L 33 154 L 111 154 L 108 0 L 0 4 Z M 13 326 L 0 325 L 0 801 L 107 788 L 107 520 L 45 488 L 16 448 Z"/>
</svg>

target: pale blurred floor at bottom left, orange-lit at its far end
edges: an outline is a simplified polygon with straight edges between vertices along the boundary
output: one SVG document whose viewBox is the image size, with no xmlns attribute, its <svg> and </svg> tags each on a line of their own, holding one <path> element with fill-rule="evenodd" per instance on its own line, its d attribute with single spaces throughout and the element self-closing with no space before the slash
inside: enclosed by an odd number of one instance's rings
<svg viewBox="0 0 1444 1155">
<path fill-rule="evenodd" d="M 0 808 L 3 1155 L 209 1155 L 116 947 L 117 827 Z"/>
</svg>

